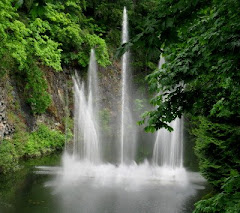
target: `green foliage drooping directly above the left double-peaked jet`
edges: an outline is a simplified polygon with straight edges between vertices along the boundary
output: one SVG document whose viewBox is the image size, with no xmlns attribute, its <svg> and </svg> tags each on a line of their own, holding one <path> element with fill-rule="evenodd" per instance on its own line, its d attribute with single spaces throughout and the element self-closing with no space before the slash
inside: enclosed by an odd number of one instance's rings
<svg viewBox="0 0 240 213">
<path fill-rule="evenodd" d="M 94 25 L 84 17 L 81 4 L 82 1 L 47 3 L 40 17 L 49 23 L 51 37 L 61 43 L 65 63 L 77 61 L 85 67 L 90 49 L 95 48 L 99 64 L 105 66 L 109 64 L 106 44 L 92 34 Z"/>
</svg>

